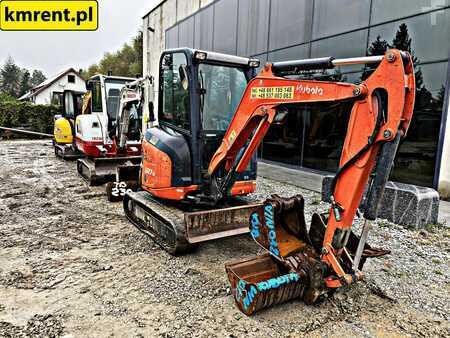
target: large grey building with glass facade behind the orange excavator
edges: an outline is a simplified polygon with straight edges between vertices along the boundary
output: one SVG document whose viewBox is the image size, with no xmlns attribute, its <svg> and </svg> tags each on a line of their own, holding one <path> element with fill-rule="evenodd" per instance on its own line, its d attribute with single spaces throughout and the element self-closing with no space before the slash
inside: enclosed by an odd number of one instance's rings
<svg viewBox="0 0 450 338">
<path fill-rule="evenodd" d="M 436 186 L 447 109 L 450 0 L 218 0 L 165 31 L 166 48 L 192 47 L 266 61 L 382 54 L 395 47 L 414 56 L 414 119 L 391 179 Z M 361 66 L 314 74 L 358 83 Z M 264 160 L 298 168 L 337 169 L 349 104 L 291 107 L 260 148 Z"/>
</svg>

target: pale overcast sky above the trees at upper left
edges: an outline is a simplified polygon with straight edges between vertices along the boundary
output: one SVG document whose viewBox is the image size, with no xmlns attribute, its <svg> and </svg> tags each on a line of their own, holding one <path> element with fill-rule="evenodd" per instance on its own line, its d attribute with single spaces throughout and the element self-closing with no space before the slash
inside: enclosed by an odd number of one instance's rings
<svg viewBox="0 0 450 338">
<path fill-rule="evenodd" d="M 142 17 L 157 0 L 98 0 L 95 32 L 0 31 L 0 67 L 11 56 L 16 64 L 39 69 L 47 77 L 73 67 L 86 69 L 104 53 L 118 50 L 142 26 Z"/>
</svg>

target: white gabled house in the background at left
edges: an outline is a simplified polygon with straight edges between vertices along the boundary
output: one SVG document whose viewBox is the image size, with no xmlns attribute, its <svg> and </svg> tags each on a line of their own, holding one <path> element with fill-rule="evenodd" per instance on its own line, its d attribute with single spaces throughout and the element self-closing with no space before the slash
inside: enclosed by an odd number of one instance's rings
<svg viewBox="0 0 450 338">
<path fill-rule="evenodd" d="M 19 98 L 20 101 L 29 101 L 34 104 L 61 105 L 65 90 L 86 92 L 86 81 L 75 69 L 69 68 L 58 75 L 45 80 L 41 84 Z"/>
</svg>

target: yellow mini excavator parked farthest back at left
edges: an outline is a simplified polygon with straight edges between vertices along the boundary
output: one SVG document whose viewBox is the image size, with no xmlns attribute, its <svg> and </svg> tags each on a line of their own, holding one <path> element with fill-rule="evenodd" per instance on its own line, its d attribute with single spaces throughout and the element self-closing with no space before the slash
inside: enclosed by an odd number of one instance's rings
<svg viewBox="0 0 450 338">
<path fill-rule="evenodd" d="M 83 113 L 84 92 L 65 90 L 62 95 L 61 114 L 55 116 L 53 146 L 55 155 L 65 160 L 83 157 L 75 146 L 75 120 Z"/>
</svg>

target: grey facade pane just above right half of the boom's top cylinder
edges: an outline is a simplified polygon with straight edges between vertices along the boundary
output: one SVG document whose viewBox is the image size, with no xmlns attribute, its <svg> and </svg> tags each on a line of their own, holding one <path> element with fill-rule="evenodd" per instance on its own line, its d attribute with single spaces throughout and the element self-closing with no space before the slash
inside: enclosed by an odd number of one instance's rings
<svg viewBox="0 0 450 338">
<path fill-rule="evenodd" d="M 367 29 L 347 33 L 333 38 L 311 43 L 311 57 L 332 56 L 335 58 L 358 57 L 366 55 Z M 342 67 L 343 71 L 360 70 L 363 66 Z"/>
</svg>

